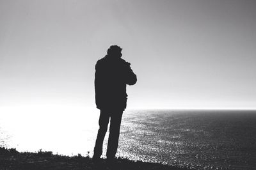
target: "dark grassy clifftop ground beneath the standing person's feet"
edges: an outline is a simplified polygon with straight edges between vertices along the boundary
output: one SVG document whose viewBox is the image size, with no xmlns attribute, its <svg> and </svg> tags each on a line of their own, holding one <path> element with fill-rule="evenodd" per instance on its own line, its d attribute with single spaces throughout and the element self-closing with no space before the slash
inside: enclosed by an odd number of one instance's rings
<svg viewBox="0 0 256 170">
<path fill-rule="evenodd" d="M 18 152 L 15 149 L 0 147 L 0 170 L 3 169 L 177 169 L 179 167 L 163 164 L 147 163 L 117 158 L 115 164 L 109 164 L 105 159 L 93 162 L 90 157 L 77 155 L 68 157 L 53 155 L 51 151 Z M 183 169 L 185 170 L 185 169 Z"/>
</svg>

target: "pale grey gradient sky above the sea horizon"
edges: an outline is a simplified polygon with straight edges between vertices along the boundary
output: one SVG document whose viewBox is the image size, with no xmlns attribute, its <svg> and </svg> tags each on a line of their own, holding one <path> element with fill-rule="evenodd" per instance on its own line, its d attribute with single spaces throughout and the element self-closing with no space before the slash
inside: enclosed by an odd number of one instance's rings
<svg viewBox="0 0 256 170">
<path fill-rule="evenodd" d="M 0 106 L 95 108 L 94 66 L 123 48 L 131 107 L 256 108 L 256 1 L 0 0 Z"/>
</svg>

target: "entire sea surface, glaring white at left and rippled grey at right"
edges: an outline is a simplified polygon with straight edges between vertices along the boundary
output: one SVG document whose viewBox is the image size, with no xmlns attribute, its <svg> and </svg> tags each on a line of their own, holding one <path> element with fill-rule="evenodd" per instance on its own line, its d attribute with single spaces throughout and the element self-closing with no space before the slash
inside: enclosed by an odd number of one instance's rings
<svg viewBox="0 0 256 170">
<path fill-rule="evenodd" d="M 0 145 L 92 156 L 98 119 L 99 111 L 79 109 L 1 114 Z M 104 154 L 107 141 L 108 133 Z M 256 111 L 125 111 L 116 155 L 196 169 L 256 169 Z"/>
</svg>

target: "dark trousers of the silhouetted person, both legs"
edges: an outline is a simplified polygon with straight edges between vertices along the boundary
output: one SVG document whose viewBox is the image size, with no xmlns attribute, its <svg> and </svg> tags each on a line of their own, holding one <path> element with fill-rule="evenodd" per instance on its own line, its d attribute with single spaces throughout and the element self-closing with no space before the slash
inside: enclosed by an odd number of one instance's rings
<svg viewBox="0 0 256 170">
<path fill-rule="evenodd" d="M 100 158 L 102 155 L 102 144 L 104 137 L 108 130 L 108 122 L 110 118 L 110 127 L 109 127 L 109 137 L 108 137 L 108 150 L 107 158 L 115 158 L 118 139 L 120 133 L 120 125 L 122 120 L 123 111 L 104 111 L 100 110 L 100 119 L 99 119 L 99 130 L 94 147 L 93 158 Z"/>
</svg>

